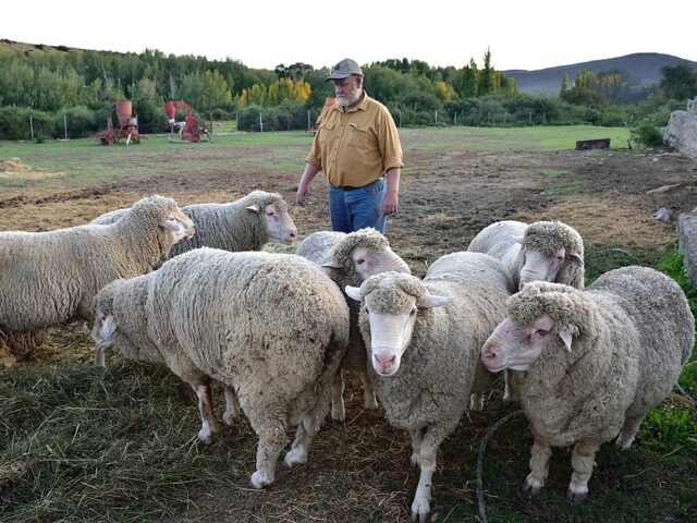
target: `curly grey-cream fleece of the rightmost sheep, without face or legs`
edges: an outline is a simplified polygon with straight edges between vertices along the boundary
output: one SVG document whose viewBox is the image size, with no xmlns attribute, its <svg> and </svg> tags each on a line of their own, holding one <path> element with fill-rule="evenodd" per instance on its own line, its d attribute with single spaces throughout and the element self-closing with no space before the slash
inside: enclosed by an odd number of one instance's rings
<svg viewBox="0 0 697 523">
<path fill-rule="evenodd" d="M 531 282 L 508 304 L 529 326 L 548 314 L 574 336 L 571 352 L 550 338 L 514 373 L 533 431 L 553 446 L 608 441 L 670 393 L 694 346 L 695 324 L 680 287 L 646 267 L 601 276 L 587 290 Z"/>
</svg>

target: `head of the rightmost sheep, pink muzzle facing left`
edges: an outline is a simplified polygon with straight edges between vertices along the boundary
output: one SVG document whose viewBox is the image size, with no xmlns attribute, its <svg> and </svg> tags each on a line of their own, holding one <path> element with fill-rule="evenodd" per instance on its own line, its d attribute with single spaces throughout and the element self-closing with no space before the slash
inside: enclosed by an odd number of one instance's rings
<svg viewBox="0 0 697 523">
<path fill-rule="evenodd" d="M 528 370 L 547 348 L 572 351 L 587 330 L 583 292 L 568 285 L 534 281 L 508 302 L 508 317 L 481 348 L 481 362 L 491 372 Z"/>
</svg>

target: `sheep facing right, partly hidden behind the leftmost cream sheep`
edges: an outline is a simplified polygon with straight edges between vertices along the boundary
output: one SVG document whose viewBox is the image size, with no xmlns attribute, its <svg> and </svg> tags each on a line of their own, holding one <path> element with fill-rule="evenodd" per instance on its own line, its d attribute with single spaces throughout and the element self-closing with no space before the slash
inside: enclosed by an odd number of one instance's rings
<svg viewBox="0 0 697 523">
<path fill-rule="evenodd" d="M 112 210 L 91 223 L 112 223 L 127 210 Z M 187 205 L 182 212 L 196 223 L 196 234 L 174 246 L 170 258 L 197 247 L 260 251 L 266 243 L 291 244 L 297 234 L 288 204 L 278 193 L 253 191 L 228 204 Z"/>
</svg>

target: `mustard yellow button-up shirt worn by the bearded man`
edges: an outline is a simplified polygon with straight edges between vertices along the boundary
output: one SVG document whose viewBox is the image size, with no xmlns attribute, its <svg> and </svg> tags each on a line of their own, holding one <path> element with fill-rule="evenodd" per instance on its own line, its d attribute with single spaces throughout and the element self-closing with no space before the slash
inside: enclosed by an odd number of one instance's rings
<svg viewBox="0 0 697 523">
<path fill-rule="evenodd" d="M 306 159 L 334 186 L 360 187 L 404 165 L 390 111 L 363 94 L 363 100 L 347 112 L 339 104 L 329 110 Z"/>
</svg>

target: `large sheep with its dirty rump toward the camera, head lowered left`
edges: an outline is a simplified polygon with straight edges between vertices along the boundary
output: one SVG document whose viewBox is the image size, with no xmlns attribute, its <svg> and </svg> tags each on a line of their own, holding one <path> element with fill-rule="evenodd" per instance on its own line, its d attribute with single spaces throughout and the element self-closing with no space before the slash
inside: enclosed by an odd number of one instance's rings
<svg viewBox="0 0 697 523">
<path fill-rule="evenodd" d="M 130 308 L 132 318 L 142 314 L 147 327 L 102 317 L 101 311 L 94 329 L 97 346 L 108 346 L 131 325 L 134 332 L 123 336 L 132 336 L 137 348 L 155 344 L 166 361 L 174 358 L 181 367 L 191 361 L 201 375 L 234 387 L 259 437 L 255 488 L 273 482 L 290 425 L 299 424 L 284 462 L 305 463 L 348 344 L 348 308 L 329 277 L 299 256 L 203 247 L 170 259 L 144 280 L 147 293 L 130 291 L 138 282 L 112 292 L 113 303 L 119 295 L 120 307 Z M 178 360 L 181 354 L 187 360 Z M 189 379 L 185 373 L 182 378 Z M 211 413 L 201 409 L 201 430 L 206 416 L 212 426 Z"/>
</svg>

